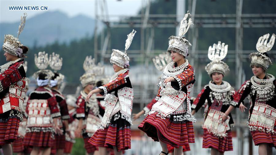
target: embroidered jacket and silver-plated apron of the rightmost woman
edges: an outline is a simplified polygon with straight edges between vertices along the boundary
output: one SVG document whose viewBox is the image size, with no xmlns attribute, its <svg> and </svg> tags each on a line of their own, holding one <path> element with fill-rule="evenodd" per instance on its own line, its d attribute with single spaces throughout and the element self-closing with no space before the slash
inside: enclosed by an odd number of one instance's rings
<svg viewBox="0 0 276 155">
<path fill-rule="evenodd" d="M 268 80 L 267 76 L 263 80 Z M 276 132 L 276 80 L 270 76 L 270 79 L 274 80 L 266 84 L 255 82 L 254 76 L 251 80 L 245 81 L 231 103 L 239 107 L 240 103 L 248 98 L 250 109 L 247 124 L 251 131 Z"/>
</svg>

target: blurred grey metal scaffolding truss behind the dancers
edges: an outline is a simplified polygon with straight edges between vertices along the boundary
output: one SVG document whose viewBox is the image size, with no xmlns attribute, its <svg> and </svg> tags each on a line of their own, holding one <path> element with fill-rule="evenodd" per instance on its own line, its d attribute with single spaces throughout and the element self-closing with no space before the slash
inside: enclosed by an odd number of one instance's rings
<svg viewBox="0 0 276 155">
<path fill-rule="evenodd" d="M 135 28 L 140 29 L 141 45 L 140 50 L 128 50 L 128 56 L 132 61 L 140 62 L 144 64 L 144 67 L 148 67 L 150 58 L 153 58 L 156 54 L 161 53 L 161 50 L 154 49 L 154 28 L 175 28 L 176 34 L 178 34 L 178 26 L 183 18 L 183 13 L 186 13 L 186 4 L 188 9 L 192 13 L 192 20 L 194 25 L 189 30 L 188 39 L 191 40 L 193 47 L 193 54 L 190 56 L 190 63 L 194 66 L 197 71 L 198 79 L 195 85 L 194 93 L 195 96 L 201 89 L 201 77 L 202 69 L 199 67 L 199 62 L 206 61 L 206 51 L 197 50 L 197 39 L 199 28 L 235 28 L 235 50 L 229 50 L 227 55 L 228 62 L 235 62 L 236 72 L 236 89 L 240 87 L 242 82 L 245 80 L 245 74 L 243 70 L 243 63 L 248 61 L 248 54 L 252 51 L 243 50 L 243 29 L 244 28 L 275 28 L 276 27 L 276 14 L 243 14 L 243 0 L 236 0 L 236 13 L 235 14 L 195 14 L 196 0 L 177 0 L 176 14 L 149 14 L 150 12 L 150 0 L 141 1 L 143 3 L 143 9 L 141 14 L 136 16 L 118 16 L 109 15 L 105 1 L 96 1 L 96 18 L 106 24 L 107 35 L 104 36 L 101 33 L 101 47 L 98 48 L 98 40 L 94 42 L 94 57 L 100 58 L 98 61 L 103 63 L 103 60 L 110 57 L 110 50 L 107 51 L 108 44 L 110 43 L 110 28 Z M 100 6 L 100 7 L 99 7 Z M 98 11 L 98 8 L 101 11 Z M 114 20 L 114 19 L 120 19 Z M 95 38 L 97 38 L 97 26 L 95 28 Z M 276 58 L 276 51 L 270 51 L 272 59 Z M 200 59 L 200 61 L 198 61 Z M 143 70 L 143 74 L 147 78 L 151 78 L 151 72 Z M 146 78 L 146 79 L 147 79 Z M 135 96 L 135 103 L 140 104 L 140 109 L 144 107 L 144 104 L 148 103 L 151 98 L 148 96 L 148 92 L 155 90 L 156 84 L 149 83 L 147 80 L 142 85 L 134 85 L 134 89 L 138 96 Z M 238 110 L 238 109 L 237 109 Z M 236 117 L 241 118 L 240 112 L 236 112 Z M 236 122 L 237 137 L 239 138 L 239 146 L 243 145 L 243 130 L 244 124 L 241 123 L 240 119 Z M 246 130 L 247 131 L 247 130 Z M 243 154 L 242 147 L 238 148 L 239 154 Z"/>
</svg>

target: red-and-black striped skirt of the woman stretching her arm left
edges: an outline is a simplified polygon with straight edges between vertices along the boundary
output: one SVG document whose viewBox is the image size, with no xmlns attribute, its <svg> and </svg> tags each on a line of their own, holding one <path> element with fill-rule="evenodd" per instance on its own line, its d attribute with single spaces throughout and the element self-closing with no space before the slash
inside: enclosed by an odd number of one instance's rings
<svg viewBox="0 0 276 155">
<path fill-rule="evenodd" d="M 121 113 L 118 112 L 121 116 Z M 102 146 L 113 149 L 117 147 L 117 151 L 130 149 L 130 123 L 121 117 L 114 121 L 114 115 L 111 119 L 109 127 L 98 129 L 95 134 L 89 139 L 89 143 L 94 146 Z"/>
</svg>

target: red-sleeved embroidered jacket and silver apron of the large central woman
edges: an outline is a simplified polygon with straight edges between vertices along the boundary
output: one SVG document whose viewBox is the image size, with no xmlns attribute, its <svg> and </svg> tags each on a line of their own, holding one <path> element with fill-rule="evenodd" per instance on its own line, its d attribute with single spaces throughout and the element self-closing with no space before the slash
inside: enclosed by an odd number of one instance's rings
<svg viewBox="0 0 276 155">
<path fill-rule="evenodd" d="M 189 64 L 188 60 L 185 62 L 186 66 L 183 69 L 179 69 L 176 72 L 170 72 L 167 67 L 173 65 L 175 67 L 176 63 L 169 63 L 161 77 L 159 83 L 160 87 L 156 100 L 158 100 L 153 106 L 149 114 L 158 112 L 158 116 L 165 118 L 173 115 L 174 121 L 192 121 L 195 122 L 196 119 L 191 114 L 191 104 L 190 104 L 190 92 L 193 88 L 195 77 L 194 68 Z M 168 77 L 173 77 L 176 81 L 168 82 L 164 84 L 164 80 Z"/>
</svg>

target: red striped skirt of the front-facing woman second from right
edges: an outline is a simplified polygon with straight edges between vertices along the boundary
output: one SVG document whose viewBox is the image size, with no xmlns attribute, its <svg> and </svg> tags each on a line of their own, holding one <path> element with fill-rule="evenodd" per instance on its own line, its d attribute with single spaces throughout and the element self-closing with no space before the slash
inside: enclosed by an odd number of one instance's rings
<svg viewBox="0 0 276 155">
<path fill-rule="evenodd" d="M 219 138 L 208 132 L 207 129 L 204 129 L 202 148 L 214 148 L 220 153 L 233 151 L 231 130 L 227 131 L 227 137 Z"/>
</svg>

